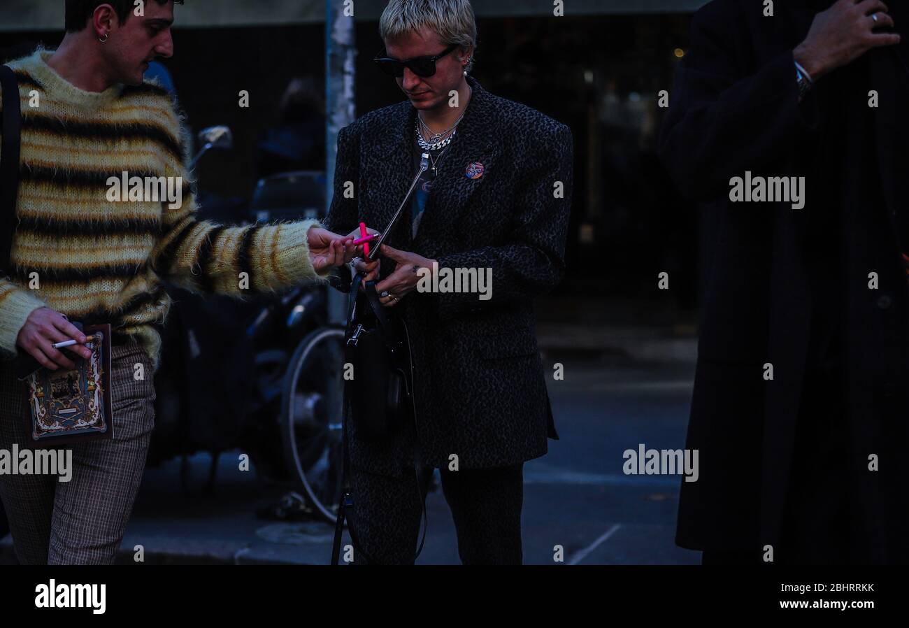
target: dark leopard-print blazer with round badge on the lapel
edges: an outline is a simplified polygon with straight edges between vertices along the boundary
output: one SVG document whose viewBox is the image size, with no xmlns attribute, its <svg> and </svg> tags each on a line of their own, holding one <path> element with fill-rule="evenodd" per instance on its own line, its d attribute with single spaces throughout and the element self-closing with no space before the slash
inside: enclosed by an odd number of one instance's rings
<svg viewBox="0 0 909 628">
<path fill-rule="evenodd" d="M 425 464 L 447 465 L 456 455 L 460 468 L 524 462 L 546 453 L 547 436 L 558 438 L 545 384 L 553 365 L 542 364 L 537 349 L 533 300 L 564 274 L 572 133 L 467 80 L 473 96 L 419 231 L 412 238 L 405 219 L 386 242 L 440 268 L 491 268 L 492 298 L 413 292 L 395 308 L 413 347 L 415 433 L 372 443 L 357 439 L 352 425 L 351 464 L 373 473 L 404 473 L 414 436 Z M 385 228 L 415 175 L 415 115 L 404 101 L 341 130 L 328 229 Z M 384 260 L 382 276 L 394 267 Z"/>
</svg>

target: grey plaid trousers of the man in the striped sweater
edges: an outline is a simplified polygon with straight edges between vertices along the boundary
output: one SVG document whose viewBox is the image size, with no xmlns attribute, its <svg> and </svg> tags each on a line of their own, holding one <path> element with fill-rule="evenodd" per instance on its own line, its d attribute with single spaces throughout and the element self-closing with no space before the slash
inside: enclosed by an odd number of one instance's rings
<svg viewBox="0 0 909 628">
<path fill-rule="evenodd" d="M 27 384 L 0 363 L 0 449 L 28 448 Z M 135 379 L 135 364 L 144 378 Z M 154 370 L 135 341 L 111 349 L 114 436 L 72 449 L 72 478 L 0 474 L 0 498 L 22 564 L 114 563 L 155 427 Z"/>
</svg>

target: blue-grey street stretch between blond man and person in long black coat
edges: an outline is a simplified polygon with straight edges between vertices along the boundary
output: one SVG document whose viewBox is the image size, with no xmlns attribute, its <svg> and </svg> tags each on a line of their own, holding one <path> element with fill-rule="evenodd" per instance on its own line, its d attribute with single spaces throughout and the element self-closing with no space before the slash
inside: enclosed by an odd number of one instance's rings
<svg viewBox="0 0 909 628">
<path fill-rule="evenodd" d="M 693 368 L 566 364 L 550 392 L 561 436 L 527 464 L 526 563 L 697 563 L 673 543 L 679 478 L 624 475 L 622 453 L 684 447 Z"/>
</svg>

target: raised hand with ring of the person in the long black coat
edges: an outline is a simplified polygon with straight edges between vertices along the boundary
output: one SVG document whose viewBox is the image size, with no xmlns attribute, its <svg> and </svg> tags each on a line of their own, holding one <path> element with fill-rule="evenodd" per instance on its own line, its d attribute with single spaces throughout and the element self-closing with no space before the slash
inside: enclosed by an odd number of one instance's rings
<svg viewBox="0 0 909 628">
<path fill-rule="evenodd" d="M 814 16 L 808 36 L 794 50 L 795 61 L 816 81 L 872 48 L 899 44 L 900 35 L 875 32 L 894 26 L 887 10 L 880 0 L 839 0 Z"/>
</svg>

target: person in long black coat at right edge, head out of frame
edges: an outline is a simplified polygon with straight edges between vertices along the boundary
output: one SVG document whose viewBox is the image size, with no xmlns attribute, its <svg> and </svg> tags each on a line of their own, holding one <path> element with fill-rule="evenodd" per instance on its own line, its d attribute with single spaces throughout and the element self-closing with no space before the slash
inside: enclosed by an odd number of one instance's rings
<svg viewBox="0 0 909 628">
<path fill-rule="evenodd" d="M 774 4 L 694 16 L 660 138 L 709 234 L 700 479 L 676 543 L 704 563 L 905 563 L 907 18 L 877 0 Z M 742 194 L 759 177 L 764 202 Z M 795 177 L 801 199 L 767 202 L 769 177 Z"/>
</svg>

